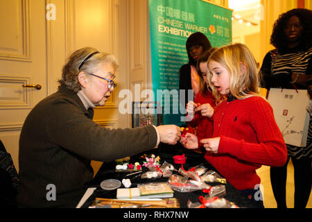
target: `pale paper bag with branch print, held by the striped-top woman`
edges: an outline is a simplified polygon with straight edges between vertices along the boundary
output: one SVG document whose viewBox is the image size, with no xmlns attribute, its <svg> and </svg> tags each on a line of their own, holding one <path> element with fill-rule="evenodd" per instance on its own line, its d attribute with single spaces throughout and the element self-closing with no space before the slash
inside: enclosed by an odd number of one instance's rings
<svg viewBox="0 0 312 222">
<path fill-rule="evenodd" d="M 271 88 L 268 102 L 272 106 L 275 121 L 286 144 L 306 146 L 311 103 L 306 89 Z"/>
</svg>

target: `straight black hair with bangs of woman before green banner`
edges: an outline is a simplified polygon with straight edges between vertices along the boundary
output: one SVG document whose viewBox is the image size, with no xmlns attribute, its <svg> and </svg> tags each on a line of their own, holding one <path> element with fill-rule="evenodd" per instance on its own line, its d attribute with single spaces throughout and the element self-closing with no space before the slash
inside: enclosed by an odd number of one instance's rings
<svg viewBox="0 0 312 222">
<path fill-rule="evenodd" d="M 189 56 L 190 65 L 196 65 L 196 61 L 189 54 L 189 48 L 191 48 L 191 46 L 196 46 L 196 45 L 202 46 L 202 51 L 206 51 L 211 48 L 211 44 L 206 35 L 200 32 L 191 34 L 187 38 L 187 44 L 186 44 L 187 56 Z"/>
</svg>

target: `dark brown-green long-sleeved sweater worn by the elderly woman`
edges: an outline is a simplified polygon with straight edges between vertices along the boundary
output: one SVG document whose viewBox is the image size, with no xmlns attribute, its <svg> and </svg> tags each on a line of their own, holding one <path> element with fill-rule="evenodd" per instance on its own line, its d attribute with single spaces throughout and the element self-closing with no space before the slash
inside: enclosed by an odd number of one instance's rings
<svg viewBox="0 0 312 222">
<path fill-rule="evenodd" d="M 111 130 L 92 118 L 93 110 L 63 86 L 28 114 L 19 138 L 20 206 L 76 207 L 92 180 L 91 160 L 108 162 L 157 144 L 153 126 Z"/>
</svg>

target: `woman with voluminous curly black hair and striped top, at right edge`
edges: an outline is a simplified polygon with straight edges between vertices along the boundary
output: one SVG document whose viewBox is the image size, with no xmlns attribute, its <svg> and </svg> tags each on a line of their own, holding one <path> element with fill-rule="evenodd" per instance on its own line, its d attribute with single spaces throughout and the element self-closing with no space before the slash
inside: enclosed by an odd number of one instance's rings
<svg viewBox="0 0 312 222">
<path fill-rule="evenodd" d="M 295 8 L 281 14 L 273 26 L 270 43 L 276 49 L 263 59 L 262 86 L 284 89 L 310 89 L 312 87 L 312 11 Z M 309 90 L 310 92 L 310 90 Z M 286 208 L 287 165 L 291 157 L 295 170 L 295 208 L 304 208 L 311 192 L 311 133 L 306 147 L 286 144 L 288 159 L 283 167 L 271 167 L 272 190 L 277 208 Z"/>
</svg>

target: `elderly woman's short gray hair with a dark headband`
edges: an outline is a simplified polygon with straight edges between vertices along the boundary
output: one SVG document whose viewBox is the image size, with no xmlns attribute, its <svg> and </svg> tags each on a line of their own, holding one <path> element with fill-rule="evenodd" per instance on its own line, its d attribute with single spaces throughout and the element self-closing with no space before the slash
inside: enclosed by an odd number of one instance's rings
<svg viewBox="0 0 312 222">
<path fill-rule="evenodd" d="M 78 74 L 80 71 L 92 73 L 94 67 L 96 67 L 96 65 L 100 62 L 111 64 L 114 69 L 118 68 L 118 64 L 114 56 L 108 53 L 95 52 L 97 52 L 97 50 L 92 47 L 85 47 L 74 51 L 71 56 L 69 56 L 67 63 L 64 65 L 62 69 L 62 79 L 58 80 L 58 83 L 77 93 L 81 89 L 81 85 L 78 81 Z M 92 53 L 94 53 L 94 55 L 85 60 Z M 84 61 L 85 63 L 80 66 Z"/>
</svg>

